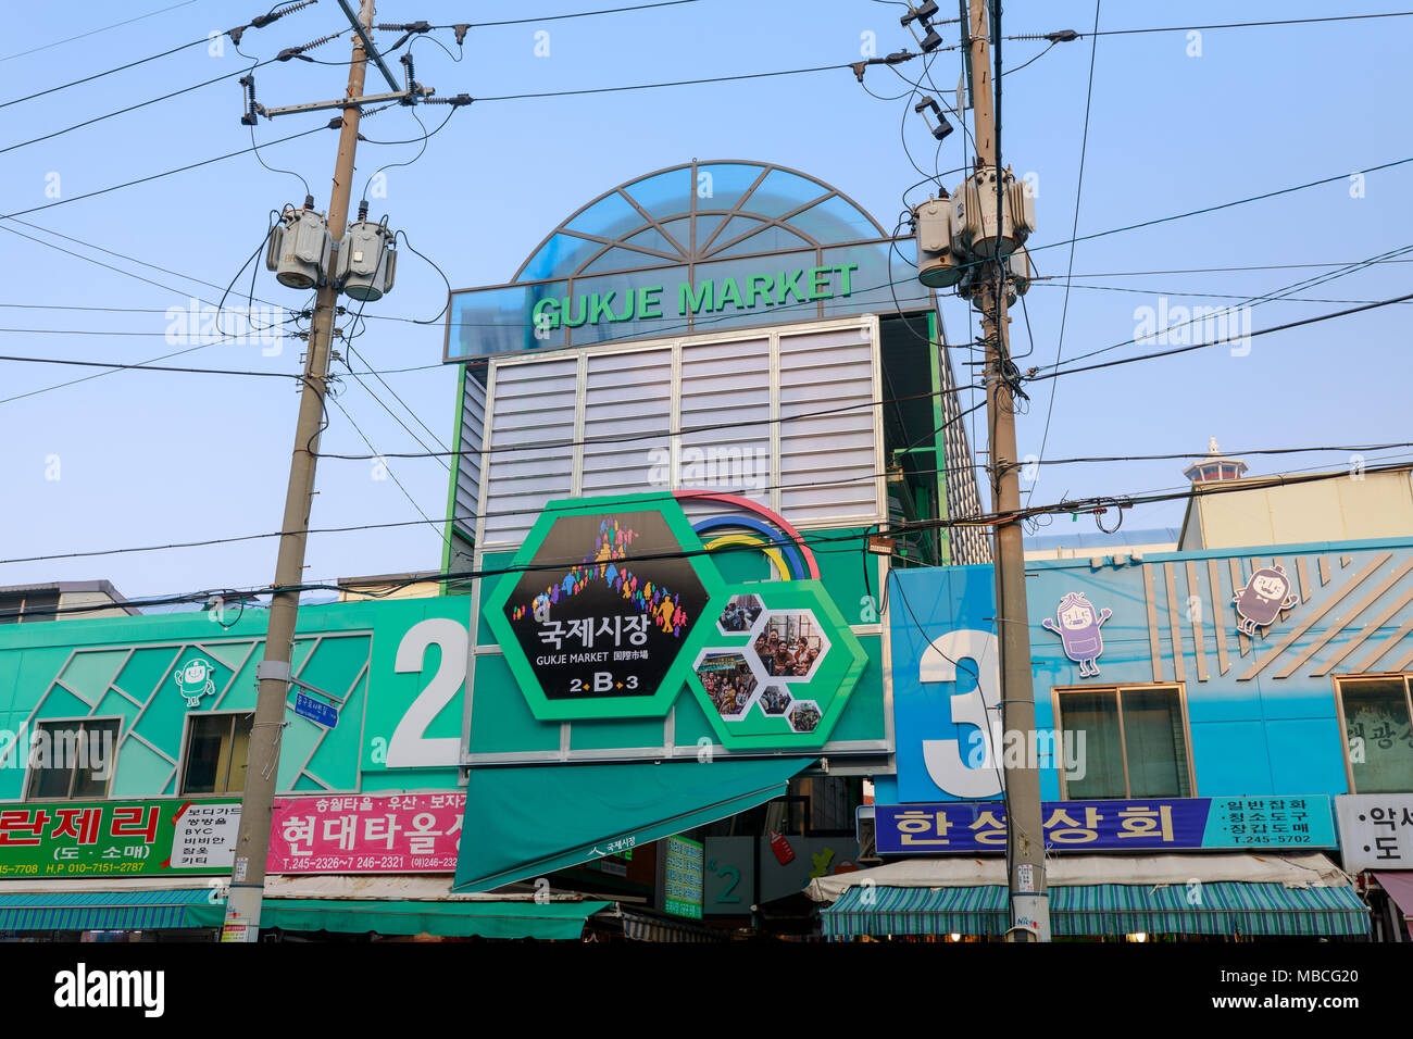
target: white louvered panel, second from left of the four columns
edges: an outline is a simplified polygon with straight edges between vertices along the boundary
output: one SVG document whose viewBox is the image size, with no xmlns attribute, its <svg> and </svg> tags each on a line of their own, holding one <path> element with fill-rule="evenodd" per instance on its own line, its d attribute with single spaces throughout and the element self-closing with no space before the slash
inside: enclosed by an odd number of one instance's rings
<svg viewBox="0 0 1413 1039">
<path fill-rule="evenodd" d="M 671 349 L 589 355 L 579 474 L 584 496 L 650 489 L 653 461 L 670 458 L 671 392 Z"/>
</svg>

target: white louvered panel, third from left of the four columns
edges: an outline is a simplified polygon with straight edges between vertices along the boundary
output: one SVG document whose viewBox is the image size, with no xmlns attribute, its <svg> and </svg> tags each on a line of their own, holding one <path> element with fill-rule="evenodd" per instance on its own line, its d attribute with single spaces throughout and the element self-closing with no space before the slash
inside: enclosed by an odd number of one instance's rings
<svg viewBox="0 0 1413 1039">
<path fill-rule="evenodd" d="M 770 341 L 682 346 L 678 407 L 678 486 L 740 493 L 769 506 Z M 691 516 L 706 512 L 688 505 Z"/>
</svg>

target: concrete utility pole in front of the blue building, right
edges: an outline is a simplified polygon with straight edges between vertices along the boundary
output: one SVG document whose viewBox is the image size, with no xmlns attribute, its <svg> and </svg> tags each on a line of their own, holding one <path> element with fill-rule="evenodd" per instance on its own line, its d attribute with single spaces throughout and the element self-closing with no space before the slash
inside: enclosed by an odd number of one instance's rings
<svg viewBox="0 0 1413 1039">
<path fill-rule="evenodd" d="M 971 0 L 971 78 L 976 164 L 996 165 L 996 120 L 992 109 L 991 47 L 986 0 Z M 1002 184 L 1000 171 L 996 182 Z M 1000 211 L 998 206 L 998 223 Z M 996 267 L 1000 267 L 998 271 Z M 1015 396 L 1006 382 L 1010 362 L 1010 318 L 1006 317 L 1005 262 L 989 262 L 976 290 L 986 341 L 986 414 L 991 427 L 991 474 L 995 510 L 1020 507 L 1020 462 L 1016 457 Z M 1000 291 L 998 291 L 1000 288 Z M 1000 717 L 1003 746 L 1024 738 L 1017 763 L 1002 753 L 1006 776 L 1006 861 L 1010 867 L 1010 922 L 1015 941 L 1050 940 L 1050 895 L 1046 889 L 1044 830 L 1040 818 L 1040 769 L 1036 746 L 1036 701 L 1030 677 L 1030 615 L 1026 606 L 1026 550 L 1020 520 L 996 523 L 996 626 L 1000 635 Z M 1002 748 L 996 748 L 998 752 Z"/>
</svg>

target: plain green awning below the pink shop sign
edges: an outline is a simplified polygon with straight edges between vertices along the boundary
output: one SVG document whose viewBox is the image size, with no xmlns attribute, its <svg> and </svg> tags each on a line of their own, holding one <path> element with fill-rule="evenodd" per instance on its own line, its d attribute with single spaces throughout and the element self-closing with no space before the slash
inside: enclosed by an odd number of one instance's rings
<svg viewBox="0 0 1413 1039">
<path fill-rule="evenodd" d="M 267 930 L 332 930 L 349 934 L 575 940 L 584 922 L 612 902 L 411 902 L 382 899 L 271 899 L 260 903 Z M 219 927 L 225 905 L 195 908 L 199 927 Z"/>
</svg>

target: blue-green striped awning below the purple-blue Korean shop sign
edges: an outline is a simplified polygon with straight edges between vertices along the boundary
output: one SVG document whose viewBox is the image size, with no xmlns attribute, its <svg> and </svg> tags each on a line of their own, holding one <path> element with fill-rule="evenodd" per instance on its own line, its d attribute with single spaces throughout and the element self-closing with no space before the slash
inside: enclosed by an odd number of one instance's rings
<svg viewBox="0 0 1413 1039">
<path fill-rule="evenodd" d="M 1369 933 L 1369 908 L 1348 885 L 1286 888 L 1282 884 L 1204 884 L 1195 902 L 1183 886 L 1130 884 L 1050 889 L 1050 930 L 1057 937 L 1149 934 L 1358 934 Z M 853 886 L 821 910 L 824 934 L 1005 934 L 1006 889 Z"/>
</svg>

